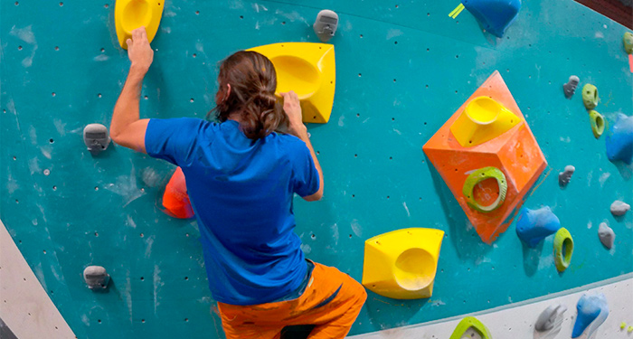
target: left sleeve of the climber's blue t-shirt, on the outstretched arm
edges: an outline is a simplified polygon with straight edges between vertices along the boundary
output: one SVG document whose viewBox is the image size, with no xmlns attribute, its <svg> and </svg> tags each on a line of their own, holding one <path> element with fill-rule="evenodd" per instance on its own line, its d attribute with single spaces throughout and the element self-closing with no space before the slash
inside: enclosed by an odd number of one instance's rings
<svg viewBox="0 0 633 339">
<path fill-rule="evenodd" d="M 204 123 L 198 118 L 149 119 L 145 134 L 147 154 L 174 165 L 185 163 Z"/>
</svg>

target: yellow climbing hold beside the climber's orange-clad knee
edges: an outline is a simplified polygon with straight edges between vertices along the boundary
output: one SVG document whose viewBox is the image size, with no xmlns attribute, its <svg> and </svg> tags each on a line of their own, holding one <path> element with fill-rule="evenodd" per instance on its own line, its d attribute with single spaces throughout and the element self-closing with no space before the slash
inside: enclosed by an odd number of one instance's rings
<svg viewBox="0 0 633 339">
<path fill-rule="evenodd" d="M 363 285 L 383 297 L 430 297 L 444 231 L 390 231 L 364 242 Z"/>
</svg>

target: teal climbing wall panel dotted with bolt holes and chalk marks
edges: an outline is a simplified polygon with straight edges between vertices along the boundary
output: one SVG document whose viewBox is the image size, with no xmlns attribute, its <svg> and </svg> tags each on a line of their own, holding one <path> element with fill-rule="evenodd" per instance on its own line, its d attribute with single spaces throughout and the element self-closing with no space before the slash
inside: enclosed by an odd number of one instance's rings
<svg viewBox="0 0 633 339">
<path fill-rule="evenodd" d="M 352 334 L 507 306 L 633 271 L 633 216 L 609 204 L 633 200 L 631 167 L 613 165 L 596 140 L 578 75 L 600 90 L 597 110 L 613 124 L 633 113 L 633 77 L 619 24 L 574 3 L 524 1 L 496 39 L 447 1 L 167 0 L 141 100 L 146 118 L 199 117 L 213 108 L 217 62 L 272 42 L 317 42 L 318 10 L 340 15 L 335 105 L 310 126 L 326 177 L 321 202 L 296 201 L 307 257 L 362 277 L 364 240 L 386 231 L 446 231 L 434 294 L 399 301 L 369 294 Z M 81 139 L 109 118 L 128 70 L 114 3 L 0 4 L 0 217 L 35 275 L 80 338 L 223 337 L 207 289 L 199 232 L 159 207 L 172 165 L 120 146 L 92 157 Z M 572 232 L 572 266 L 559 274 L 552 237 L 525 250 L 514 225 L 482 243 L 421 146 L 498 70 L 549 167 L 524 206 L 551 206 Z M 580 90 L 579 90 L 580 91 Z M 608 132 L 607 132 L 608 133 Z M 567 189 L 557 175 L 576 173 Z M 598 240 L 601 221 L 617 233 Z M 108 293 L 82 271 L 102 265 Z"/>
</svg>

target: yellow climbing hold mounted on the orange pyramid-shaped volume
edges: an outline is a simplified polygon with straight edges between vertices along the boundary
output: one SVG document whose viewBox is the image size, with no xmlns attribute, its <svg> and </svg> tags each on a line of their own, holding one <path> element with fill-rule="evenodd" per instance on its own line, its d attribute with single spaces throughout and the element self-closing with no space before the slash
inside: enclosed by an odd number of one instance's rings
<svg viewBox="0 0 633 339">
<path fill-rule="evenodd" d="M 450 132 L 459 145 L 477 146 L 501 136 L 521 122 L 515 113 L 495 99 L 477 97 L 470 100 L 459 118 L 450 126 Z"/>
</svg>

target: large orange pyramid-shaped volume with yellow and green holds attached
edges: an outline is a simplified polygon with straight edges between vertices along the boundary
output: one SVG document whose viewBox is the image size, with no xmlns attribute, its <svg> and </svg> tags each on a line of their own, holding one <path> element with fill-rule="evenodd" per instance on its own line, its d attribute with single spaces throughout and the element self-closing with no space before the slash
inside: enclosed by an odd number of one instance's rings
<svg viewBox="0 0 633 339">
<path fill-rule="evenodd" d="M 451 127 L 460 117 L 463 118 L 462 113 L 470 102 L 481 97 L 493 99 L 508 111 L 508 117 L 516 117 L 520 121 L 513 121 L 512 126 L 505 125 L 494 137 L 486 137 L 487 140 L 478 145 L 462 146 L 459 138 L 463 136 L 456 137 L 453 133 L 459 133 L 458 128 L 451 131 Z M 458 108 L 422 148 L 466 212 L 481 240 L 488 244 L 507 229 L 513 212 L 521 207 L 525 193 L 547 166 L 541 148 L 498 71 Z M 472 203 L 468 204 L 463 187 L 469 174 L 485 167 L 496 167 L 505 174 L 507 191 L 505 201 L 494 211 L 484 209 L 482 212 L 473 208 Z M 477 183 L 472 191 L 477 205 L 488 206 L 496 202 L 500 187 L 496 180 L 490 178 Z"/>
</svg>

